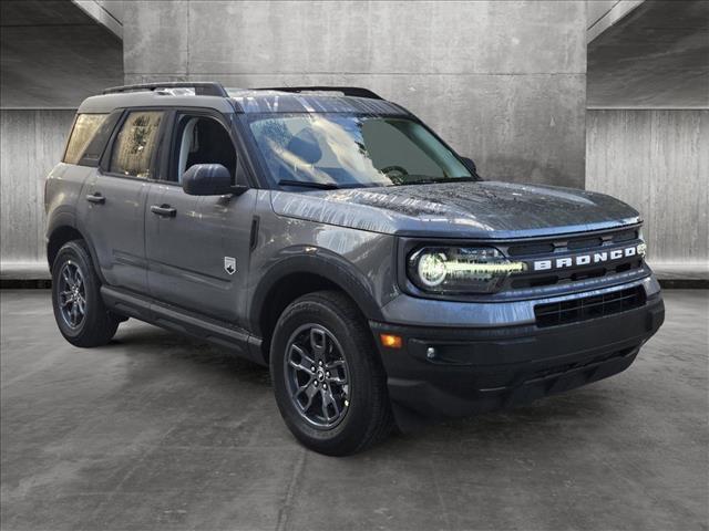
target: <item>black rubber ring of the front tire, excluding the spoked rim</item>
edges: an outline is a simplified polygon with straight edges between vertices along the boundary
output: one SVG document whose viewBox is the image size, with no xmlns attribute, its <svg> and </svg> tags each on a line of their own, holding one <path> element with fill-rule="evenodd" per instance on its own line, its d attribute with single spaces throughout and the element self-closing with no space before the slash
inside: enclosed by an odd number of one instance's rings
<svg viewBox="0 0 709 531">
<path fill-rule="evenodd" d="M 330 429 L 316 428 L 307 423 L 296 409 L 286 383 L 285 356 L 292 333 L 305 324 L 316 323 L 330 331 L 342 347 L 342 355 L 350 375 L 350 394 L 347 414 Z M 351 333 L 351 327 L 337 309 L 311 298 L 296 301 L 288 306 L 274 332 L 270 348 L 270 373 L 276 402 L 285 423 L 304 444 L 327 452 L 341 448 L 367 429 L 372 407 L 372 381 L 370 360 L 363 348 L 372 348 L 371 341 Z"/>
</svg>

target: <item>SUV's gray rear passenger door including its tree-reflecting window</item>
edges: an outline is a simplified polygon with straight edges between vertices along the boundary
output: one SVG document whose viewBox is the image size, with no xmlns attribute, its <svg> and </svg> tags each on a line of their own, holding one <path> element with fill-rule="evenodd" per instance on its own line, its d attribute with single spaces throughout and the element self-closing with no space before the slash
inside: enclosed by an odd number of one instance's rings
<svg viewBox="0 0 709 531">
<path fill-rule="evenodd" d="M 129 110 L 84 187 L 84 226 L 110 285 L 147 292 L 145 205 L 157 171 L 162 110 Z"/>
</svg>

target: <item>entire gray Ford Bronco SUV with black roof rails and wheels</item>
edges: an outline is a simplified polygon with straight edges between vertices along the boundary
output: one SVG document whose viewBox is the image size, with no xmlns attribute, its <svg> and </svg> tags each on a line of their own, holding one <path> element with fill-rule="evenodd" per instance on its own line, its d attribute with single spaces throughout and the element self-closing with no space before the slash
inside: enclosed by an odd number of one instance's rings
<svg viewBox="0 0 709 531">
<path fill-rule="evenodd" d="M 106 90 L 45 209 L 70 343 L 135 317 L 233 348 L 329 455 L 616 374 L 664 320 L 636 210 L 482 180 L 363 88 Z"/>
</svg>

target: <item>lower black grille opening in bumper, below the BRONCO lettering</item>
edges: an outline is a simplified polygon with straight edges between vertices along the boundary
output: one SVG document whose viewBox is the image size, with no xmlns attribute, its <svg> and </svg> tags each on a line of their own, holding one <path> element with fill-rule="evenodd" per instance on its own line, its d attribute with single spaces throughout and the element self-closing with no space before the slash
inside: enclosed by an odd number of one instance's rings
<svg viewBox="0 0 709 531">
<path fill-rule="evenodd" d="M 643 304 L 645 304 L 645 290 L 638 285 L 600 295 L 537 304 L 534 306 L 534 314 L 536 325 L 546 327 L 613 315 Z"/>
</svg>

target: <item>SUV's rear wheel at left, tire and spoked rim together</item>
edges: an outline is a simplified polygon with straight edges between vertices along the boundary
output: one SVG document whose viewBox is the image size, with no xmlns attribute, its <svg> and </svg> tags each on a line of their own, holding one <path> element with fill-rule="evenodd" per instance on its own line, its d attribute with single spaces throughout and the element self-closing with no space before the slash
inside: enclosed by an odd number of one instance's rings
<svg viewBox="0 0 709 531">
<path fill-rule="evenodd" d="M 52 306 L 60 332 L 72 345 L 101 346 L 115 335 L 120 317 L 106 310 L 100 289 L 84 242 L 65 243 L 52 264 Z"/>
</svg>

